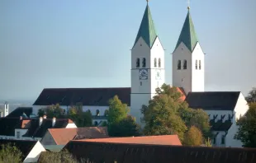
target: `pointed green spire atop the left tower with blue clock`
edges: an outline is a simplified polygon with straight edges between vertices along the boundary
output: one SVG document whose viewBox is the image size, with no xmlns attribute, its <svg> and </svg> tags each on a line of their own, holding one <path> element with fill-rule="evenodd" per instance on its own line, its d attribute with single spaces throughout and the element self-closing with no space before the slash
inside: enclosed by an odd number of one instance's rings
<svg viewBox="0 0 256 163">
<path fill-rule="evenodd" d="M 152 19 L 148 4 L 145 9 L 145 13 L 142 18 L 142 21 L 140 23 L 140 30 L 138 31 L 138 34 L 137 34 L 137 37 L 135 40 L 135 44 L 140 39 L 140 37 L 142 37 L 143 40 L 145 40 L 146 44 L 149 45 L 149 48 L 152 47 L 154 40 L 157 37 L 156 30 L 154 28 L 154 21 Z M 134 46 L 135 46 L 135 44 L 134 44 Z"/>
</svg>

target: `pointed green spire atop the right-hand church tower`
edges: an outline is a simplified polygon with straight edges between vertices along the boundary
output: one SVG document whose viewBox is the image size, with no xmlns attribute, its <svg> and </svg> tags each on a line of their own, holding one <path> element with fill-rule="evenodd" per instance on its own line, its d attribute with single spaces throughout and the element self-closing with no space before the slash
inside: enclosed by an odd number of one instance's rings
<svg viewBox="0 0 256 163">
<path fill-rule="evenodd" d="M 187 17 L 183 24 L 183 30 L 179 35 L 178 42 L 176 44 L 175 49 L 177 49 L 178 45 L 181 44 L 181 42 L 183 42 L 187 46 L 187 49 L 189 49 L 192 52 L 192 50 L 195 48 L 198 42 L 198 39 L 197 39 L 197 34 L 192 22 L 192 17 L 190 16 L 190 12 L 189 12 L 190 8 L 187 7 L 187 9 L 188 9 Z"/>
</svg>

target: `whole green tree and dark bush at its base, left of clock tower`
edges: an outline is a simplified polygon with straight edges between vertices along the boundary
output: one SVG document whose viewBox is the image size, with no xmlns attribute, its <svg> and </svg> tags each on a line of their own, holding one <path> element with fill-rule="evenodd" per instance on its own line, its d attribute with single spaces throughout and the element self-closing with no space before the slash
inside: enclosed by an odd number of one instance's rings
<svg viewBox="0 0 256 163">
<path fill-rule="evenodd" d="M 111 137 L 130 137 L 139 136 L 140 127 L 135 123 L 135 119 L 128 116 L 128 107 L 122 104 L 118 96 L 115 95 L 109 100 L 107 111 L 107 129 Z"/>
</svg>

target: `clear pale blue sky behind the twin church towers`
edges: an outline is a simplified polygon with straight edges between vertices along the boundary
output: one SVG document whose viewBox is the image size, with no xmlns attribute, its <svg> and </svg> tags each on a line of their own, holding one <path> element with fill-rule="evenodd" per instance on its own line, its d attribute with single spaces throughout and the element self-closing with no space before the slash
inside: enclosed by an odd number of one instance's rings
<svg viewBox="0 0 256 163">
<path fill-rule="evenodd" d="M 192 0 L 206 59 L 205 91 L 256 86 L 256 1 Z M 36 100 L 44 88 L 130 86 L 130 49 L 145 0 L 1 0 L 0 101 Z M 151 0 L 166 83 L 187 0 Z"/>
</svg>

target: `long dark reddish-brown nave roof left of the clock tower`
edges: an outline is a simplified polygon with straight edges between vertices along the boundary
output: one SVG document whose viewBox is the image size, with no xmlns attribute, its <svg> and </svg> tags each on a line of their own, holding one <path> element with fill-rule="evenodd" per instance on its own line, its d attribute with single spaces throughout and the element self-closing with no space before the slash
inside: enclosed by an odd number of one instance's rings
<svg viewBox="0 0 256 163">
<path fill-rule="evenodd" d="M 118 95 L 130 106 L 130 87 L 116 88 L 45 88 L 34 105 L 97 105 L 107 106 L 108 100 Z"/>
</svg>

